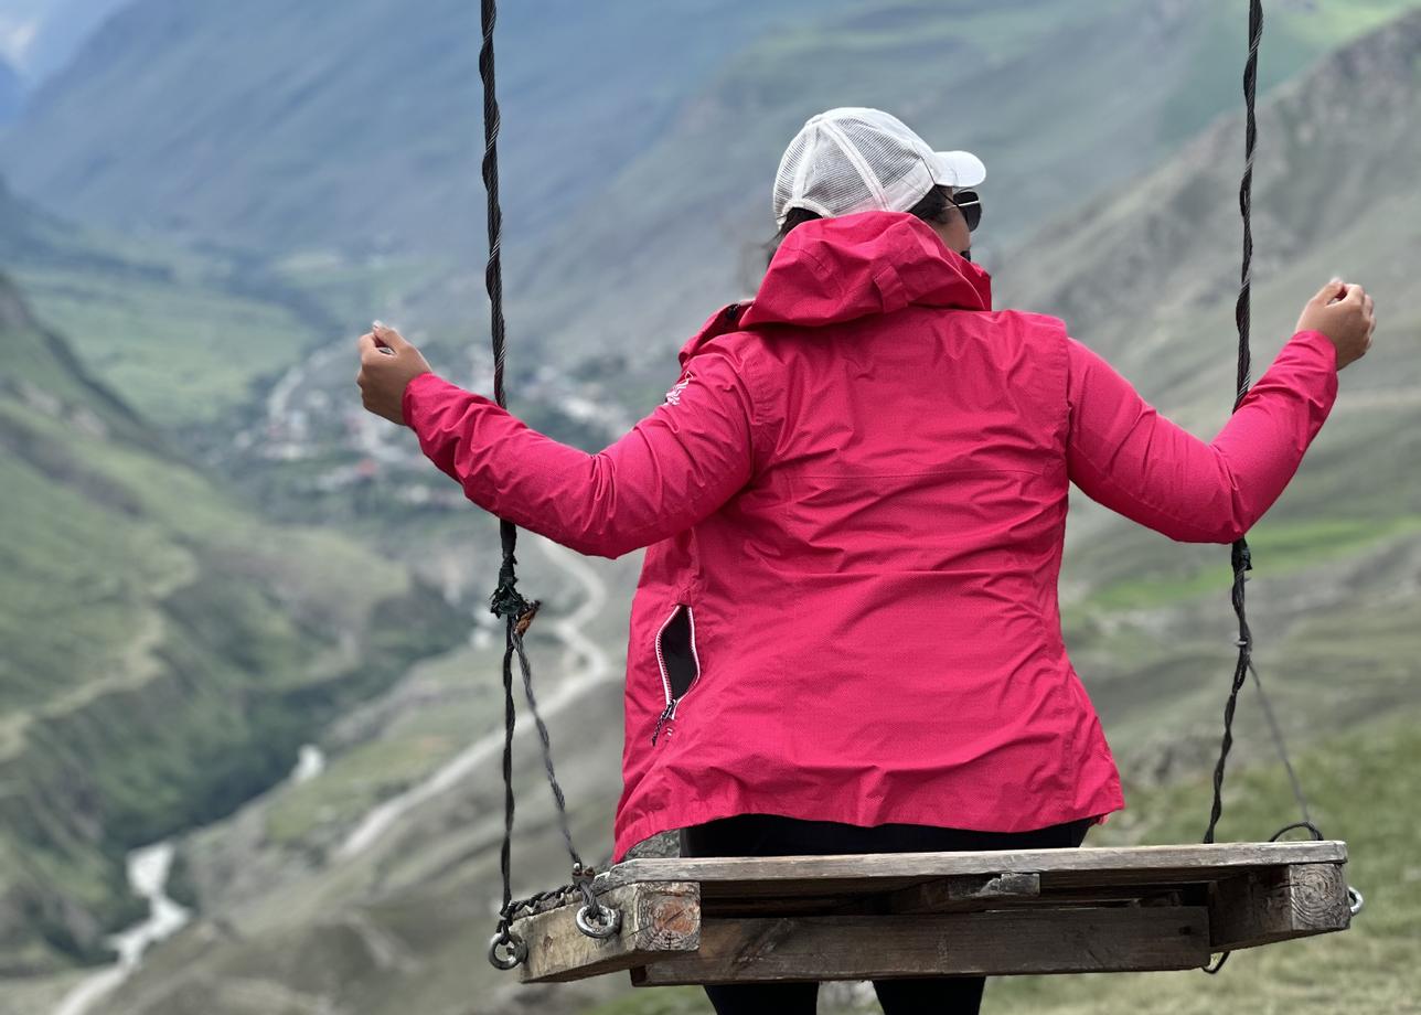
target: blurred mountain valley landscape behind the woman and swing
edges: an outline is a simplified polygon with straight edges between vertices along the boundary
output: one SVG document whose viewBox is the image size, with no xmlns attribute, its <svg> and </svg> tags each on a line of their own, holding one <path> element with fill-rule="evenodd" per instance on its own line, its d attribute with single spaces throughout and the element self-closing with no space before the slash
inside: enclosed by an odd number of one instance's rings
<svg viewBox="0 0 1421 1015">
<path fill-rule="evenodd" d="M 1250 536 L 1250 616 L 1367 908 L 1218 978 L 993 981 L 990 1012 L 1421 1011 L 1421 0 L 1266 9 L 1255 375 L 1331 274 L 1381 327 Z M 352 384 L 378 317 L 490 391 L 477 17 L 0 0 L 0 1015 L 709 1012 L 620 975 L 519 988 L 483 958 L 497 523 Z M 753 293 L 784 144 L 877 105 L 985 159 L 999 306 L 1064 317 L 1211 438 L 1245 38 L 1222 0 L 506 3 L 510 407 L 590 451 L 649 412 L 685 338 Z M 641 554 L 520 546 L 600 859 Z M 1093 844 L 1202 834 L 1226 589 L 1223 547 L 1073 495 L 1066 640 L 1128 802 Z M 1295 805 L 1252 687 L 1236 729 L 1221 837 L 1266 839 Z M 567 879 L 527 732 L 524 894 Z M 821 1011 L 877 1008 L 836 987 Z"/>
</svg>

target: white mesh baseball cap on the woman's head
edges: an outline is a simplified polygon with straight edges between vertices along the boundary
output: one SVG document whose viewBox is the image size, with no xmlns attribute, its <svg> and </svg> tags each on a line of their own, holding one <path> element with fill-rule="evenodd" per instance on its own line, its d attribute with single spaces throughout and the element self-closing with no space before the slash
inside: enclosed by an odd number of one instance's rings
<svg viewBox="0 0 1421 1015">
<path fill-rule="evenodd" d="M 774 222 L 791 208 L 826 219 L 872 209 L 907 212 L 934 185 L 963 188 L 986 179 L 971 152 L 935 152 L 882 109 L 841 107 L 810 117 L 784 149 L 774 175 Z"/>
</svg>

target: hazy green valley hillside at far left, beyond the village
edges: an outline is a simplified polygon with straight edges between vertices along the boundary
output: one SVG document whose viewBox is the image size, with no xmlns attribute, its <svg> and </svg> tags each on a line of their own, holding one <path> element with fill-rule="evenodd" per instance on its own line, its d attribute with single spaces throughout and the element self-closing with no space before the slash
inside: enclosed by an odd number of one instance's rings
<svg viewBox="0 0 1421 1015">
<path fill-rule="evenodd" d="M 78 227 L 3 181 L 0 266 L 85 368 L 159 426 L 230 422 L 338 328 L 323 287 L 290 270 Z"/>
</svg>

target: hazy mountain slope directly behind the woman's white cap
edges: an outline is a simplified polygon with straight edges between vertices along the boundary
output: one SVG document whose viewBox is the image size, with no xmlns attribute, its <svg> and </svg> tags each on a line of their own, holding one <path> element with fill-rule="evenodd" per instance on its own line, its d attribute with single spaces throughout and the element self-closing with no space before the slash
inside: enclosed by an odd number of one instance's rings
<svg viewBox="0 0 1421 1015">
<path fill-rule="evenodd" d="M 1262 88 L 1412 6 L 1275 4 Z M 678 347 L 753 291 L 779 155 L 806 117 L 833 105 L 881 105 L 936 145 L 982 155 L 976 253 L 996 267 L 1007 243 L 1115 195 L 1236 111 L 1245 40 L 1243 11 L 1214 0 L 898 0 L 757 40 L 539 250 L 531 272 L 514 264 L 510 320 L 574 360 Z"/>
</svg>

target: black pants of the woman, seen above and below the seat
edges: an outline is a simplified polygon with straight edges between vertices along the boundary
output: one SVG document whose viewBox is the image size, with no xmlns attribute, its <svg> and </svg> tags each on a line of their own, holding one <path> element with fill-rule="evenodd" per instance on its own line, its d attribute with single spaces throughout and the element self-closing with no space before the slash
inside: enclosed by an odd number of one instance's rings
<svg viewBox="0 0 1421 1015">
<path fill-rule="evenodd" d="M 863 829 L 776 815 L 740 815 L 681 832 L 682 856 L 827 856 L 833 853 L 958 853 L 992 849 L 1074 849 L 1094 819 L 1033 832 L 968 832 L 926 825 Z M 983 977 L 875 979 L 884 1015 L 976 1015 Z M 716 1015 L 814 1015 L 818 984 L 706 987 Z"/>
</svg>

